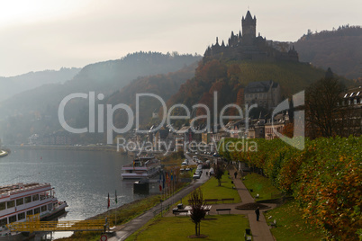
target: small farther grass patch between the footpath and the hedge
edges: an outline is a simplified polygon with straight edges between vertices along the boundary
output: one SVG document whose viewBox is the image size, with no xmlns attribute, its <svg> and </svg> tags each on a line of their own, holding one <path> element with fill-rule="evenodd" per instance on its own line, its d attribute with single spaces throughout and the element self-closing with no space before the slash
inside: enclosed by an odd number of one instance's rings
<svg viewBox="0 0 362 241">
<path fill-rule="evenodd" d="M 248 174 L 242 182 L 248 190 L 253 190 L 253 192 L 250 192 L 251 196 L 255 197 L 257 193 L 259 194 L 258 201 L 272 199 L 272 192 L 280 192 L 272 185 L 270 179 L 259 174 Z"/>
</svg>

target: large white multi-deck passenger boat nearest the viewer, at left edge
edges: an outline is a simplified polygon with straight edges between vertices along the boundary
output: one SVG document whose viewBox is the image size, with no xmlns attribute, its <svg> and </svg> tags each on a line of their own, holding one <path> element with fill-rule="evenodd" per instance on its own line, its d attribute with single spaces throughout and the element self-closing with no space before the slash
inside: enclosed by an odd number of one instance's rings
<svg viewBox="0 0 362 241">
<path fill-rule="evenodd" d="M 54 195 L 54 188 L 50 183 L 0 186 L 0 241 L 3 240 L 2 237 L 9 237 L 6 225 L 26 221 L 32 215 L 38 214 L 41 220 L 46 220 L 64 213 L 68 207 L 67 202 L 58 201 Z"/>
</svg>

